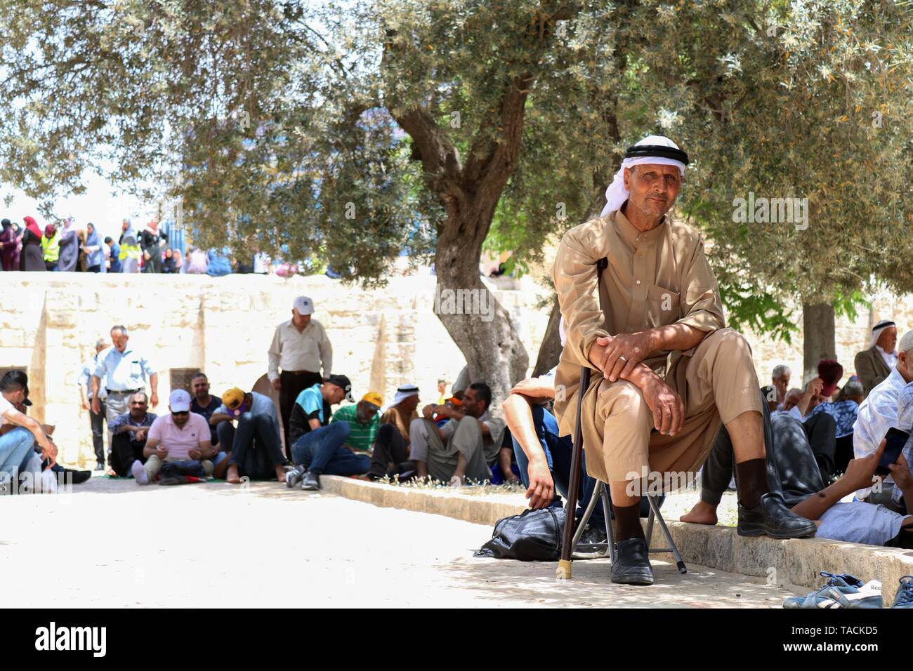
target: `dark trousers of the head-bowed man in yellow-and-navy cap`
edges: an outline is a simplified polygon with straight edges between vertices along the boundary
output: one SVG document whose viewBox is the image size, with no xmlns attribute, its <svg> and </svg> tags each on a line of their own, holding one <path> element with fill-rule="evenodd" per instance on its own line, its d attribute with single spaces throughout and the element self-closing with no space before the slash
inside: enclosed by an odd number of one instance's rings
<svg viewBox="0 0 913 671">
<path fill-rule="evenodd" d="M 231 447 L 228 464 L 236 465 L 238 475 L 256 480 L 276 477 L 276 467 L 288 463 L 277 441 L 277 426 L 268 414 L 244 413 L 237 418 L 237 428 L 231 422 L 216 426 L 219 445 Z"/>
</svg>

